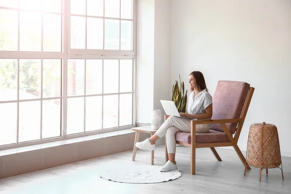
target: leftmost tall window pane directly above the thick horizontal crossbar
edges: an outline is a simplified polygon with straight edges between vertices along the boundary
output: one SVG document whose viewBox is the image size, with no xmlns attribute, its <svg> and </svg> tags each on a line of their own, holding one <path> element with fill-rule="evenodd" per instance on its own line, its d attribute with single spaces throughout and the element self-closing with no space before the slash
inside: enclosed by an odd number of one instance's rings
<svg viewBox="0 0 291 194">
<path fill-rule="evenodd" d="M 18 13 L 0 9 L 0 50 L 18 49 Z"/>
</svg>

